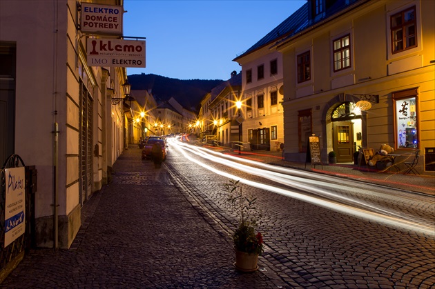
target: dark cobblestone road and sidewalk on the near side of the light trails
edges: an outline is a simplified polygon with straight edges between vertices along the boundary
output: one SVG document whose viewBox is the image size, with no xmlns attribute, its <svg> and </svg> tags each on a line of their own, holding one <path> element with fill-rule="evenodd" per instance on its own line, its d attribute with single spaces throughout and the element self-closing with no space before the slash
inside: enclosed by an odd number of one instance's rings
<svg viewBox="0 0 435 289">
<path fill-rule="evenodd" d="M 431 288 L 435 283 L 434 239 L 255 188 L 267 247 L 260 270 L 242 274 L 233 267 L 235 216 L 222 194 L 227 179 L 171 148 L 161 169 L 142 161 L 133 147 L 113 169 L 113 183 L 85 204 L 70 250 L 31 250 L 3 288 Z"/>
</svg>

